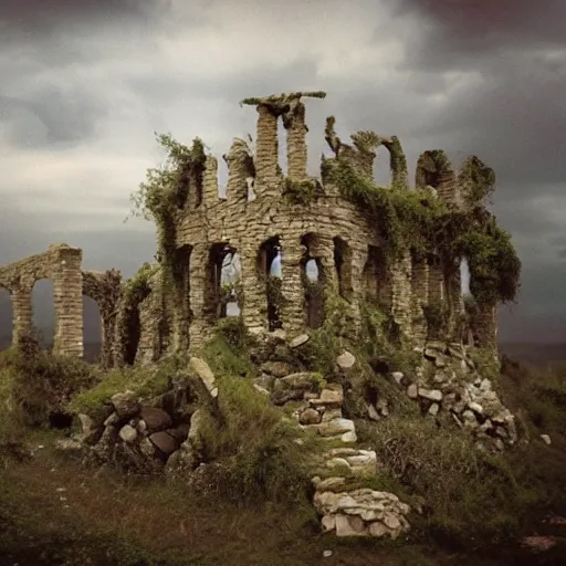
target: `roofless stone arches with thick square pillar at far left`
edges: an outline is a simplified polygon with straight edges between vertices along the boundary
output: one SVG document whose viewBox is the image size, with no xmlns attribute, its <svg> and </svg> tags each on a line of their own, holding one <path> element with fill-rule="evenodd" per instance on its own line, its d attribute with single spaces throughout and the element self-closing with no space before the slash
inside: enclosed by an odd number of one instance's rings
<svg viewBox="0 0 566 566">
<path fill-rule="evenodd" d="M 35 281 L 53 281 L 55 335 L 53 349 L 69 356 L 83 355 L 82 250 L 67 244 L 51 245 L 46 252 L 0 268 L 0 286 L 12 297 L 12 343 L 32 332 L 31 293 Z"/>
</svg>

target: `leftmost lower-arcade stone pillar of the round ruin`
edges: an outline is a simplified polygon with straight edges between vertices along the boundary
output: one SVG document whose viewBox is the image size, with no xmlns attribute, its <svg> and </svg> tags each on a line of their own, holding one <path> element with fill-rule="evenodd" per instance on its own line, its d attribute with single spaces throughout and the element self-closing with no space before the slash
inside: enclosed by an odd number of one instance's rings
<svg viewBox="0 0 566 566">
<path fill-rule="evenodd" d="M 206 316 L 206 276 L 208 264 L 208 247 L 205 243 L 196 244 L 192 248 L 189 265 L 189 298 L 192 313 L 189 326 L 189 349 L 200 348 L 208 335 L 208 319 Z"/>
</svg>

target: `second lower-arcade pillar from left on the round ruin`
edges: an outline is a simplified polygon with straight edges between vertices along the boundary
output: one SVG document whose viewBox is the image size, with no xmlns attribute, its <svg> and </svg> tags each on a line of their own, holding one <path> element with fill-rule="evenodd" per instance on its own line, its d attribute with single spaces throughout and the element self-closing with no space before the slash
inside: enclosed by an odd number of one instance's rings
<svg viewBox="0 0 566 566">
<path fill-rule="evenodd" d="M 243 292 L 241 316 L 245 327 L 252 333 L 268 328 L 268 295 L 265 281 L 258 273 L 258 253 L 259 249 L 252 244 L 244 245 L 240 253 L 240 281 Z"/>
</svg>

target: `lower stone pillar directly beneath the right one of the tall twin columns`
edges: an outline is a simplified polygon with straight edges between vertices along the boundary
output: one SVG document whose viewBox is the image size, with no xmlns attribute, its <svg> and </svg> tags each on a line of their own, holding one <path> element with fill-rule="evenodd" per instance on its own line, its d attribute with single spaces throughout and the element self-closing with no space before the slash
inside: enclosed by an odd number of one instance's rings
<svg viewBox="0 0 566 566">
<path fill-rule="evenodd" d="M 283 329 L 293 335 L 305 326 L 304 289 L 301 280 L 301 242 L 298 238 L 282 239 L 282 308 Z"/>
</svg>

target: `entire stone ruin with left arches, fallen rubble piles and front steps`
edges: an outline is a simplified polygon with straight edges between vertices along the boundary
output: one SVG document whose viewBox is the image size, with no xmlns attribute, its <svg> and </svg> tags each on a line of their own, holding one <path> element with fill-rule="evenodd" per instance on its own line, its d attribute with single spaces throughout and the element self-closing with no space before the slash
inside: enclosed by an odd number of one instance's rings
<svg viewBox="0 0 566 566">
<path fill-rule="evenodd" d="M 357 132 L 350 136 L 352 144 L 346 144 L 329 117 L 325 138 L 334 157 L 323 158 L 321 179 L 308 176 L 302 98 L 310 95 L 324 97 L 324 93 L 291 93 L 243 101 L 258 111 L 255 151 L 245 140 L 233 140 L 223 156 L 226 196 L 219 193 L 214 157 L 203 156 L 198 169 L 184 174 L 169 227 L 175 241 L 167 242 L 172 260 L 168 268 L 163 241 L 157 263 L 144 265 L 128 281 L 115 270 L 83 271 L 82 251 L 60 244 L 0 268 L 0 287 L 12 297 L 13 344 L 32 331 L 33 284 L 52 279 L 56 353 L 83 356 L 82 297 L 86 295 L 99 308 L 104 367 L 151 364 L 170 353 L 189 355 L 187 375 L 195 374 L 197 382 L 206 386 L 199 395 L 212 408 L 218 395 L 214 376 L 195 355 L 228 315 L 227 302 L 235 297 L 243 325 L 264 345 L 264 358 L 258 358 L 262 378 L 254 384 L 256 391 L 276 406 L 293 409 L 298 428 L 314 431 L 323 441 L 343 443 L 313 461 L 313 503 L 323 531 L 396 538 L 409 530 L 410 507 L 394 494 L 357 484 L 376 474 L 378 462 L 375 451 L 357 444 L 355 423 L 343 415 L 343 386 L 326 381 L 321 386 L 319 375 L 277 358 L 282 349 L 286 353 L 283 359 L 292 357 L 291 350 L 310 340 L 308 329 L 324 321 L 324 305 L 321 312 L 321 302 L 316 304 L 308 294 L 307 265 L 316 265 L 324 290 L 344 300 L 354 332 L 361 326 L 364 302 L 377 302 L 421 355 L 415 376 L 391 374 L 421 413 L 432 418 L 439 411 L 451 415 L 459 427 L 470 430 L 479 448 L 491 442 L 495 450 L 503 450 L 504 443 L 517 440 L 514 417 L 467 348 L 473 343 L 496 355 L 497 305 L 476 302 L 464 333 L 459 326 L 464 312 L 460 266 L 443 264 L 440 254 L 423 259 L 410 248 L 391 259 L 376 230 L 380 219 L 343 198 L 333 185 L 328 170 L 340 164 L 373 182 L 376 150 L 384 146 L 390 155 L 390 187 L 408 190 L 407 163 L 396 136 Z M 286 175 L 277 163 L 280 117 L 286 129 Z M 478 205 L 471 179 L 462 172 L 457 176 L 439 154 L 424 151 L 419 157 L 416 186 L 429 189 L 455 210 Z M 310 191 L 308 202 L 289 198 L 297 187 Z M 240 281 L 234 295 L 234 287 L 226 293 L 222 272 L 227 259 L 235 258 Z M 283 297 L 277 304 L 270 291 L 275 258 L 281 261 L 277 293 Z M 439 336 L 424 316 L 431 307 L 447 313 L 443 324 L 451 339 L 434 339 Z M 337 371 L 347 377 L 356 364 L 355 356 L 344 352 L 336 360 Z M 115 394 L 102 418 L 80 415 L 82 436 L 63 443 L 101 462 L 122 454 L 136 465 L 158 465 L 170 473 L 188 469 L 198 482 L 203 467 L 213 464 L 203 463 L 199 455 L 199 410 L 182 412 L 192 394 L 190 380 L 181 374 L 171 390 L 154 400 L 139 399 L 134 391 Z M 366 401 L 368 419 L 387 417 L 387 399 Z"/>
</svg>

